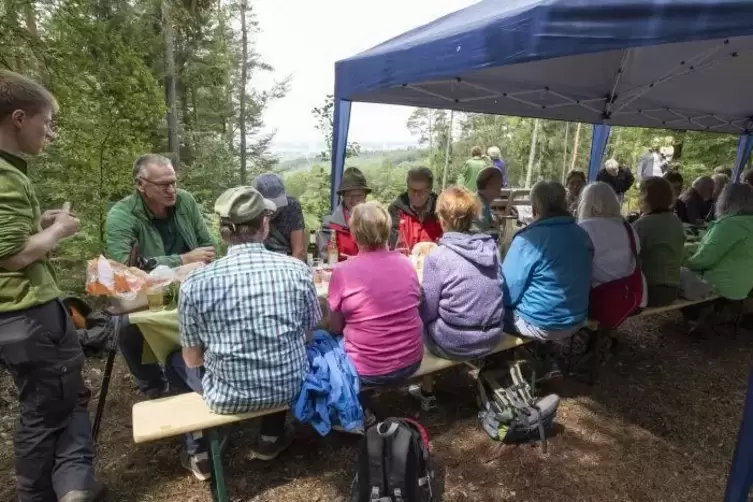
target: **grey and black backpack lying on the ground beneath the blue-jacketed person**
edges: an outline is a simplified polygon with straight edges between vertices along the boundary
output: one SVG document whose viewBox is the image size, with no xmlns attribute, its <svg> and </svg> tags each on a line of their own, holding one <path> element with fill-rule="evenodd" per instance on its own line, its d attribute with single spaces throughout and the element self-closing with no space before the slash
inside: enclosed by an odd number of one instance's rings
<svg viewBox="0 0 753 502">
<path fill-rule="evenodd" d="M 546 453 L 546 438 L 554 430 L 560 398 L 556 394 L 536 398 L 523 378 L 520 362 L 505 370 L 482 371 L 478 401 L 481 427 L 489 437 L 507 444 L 540 440 Z"/>
</svg>

